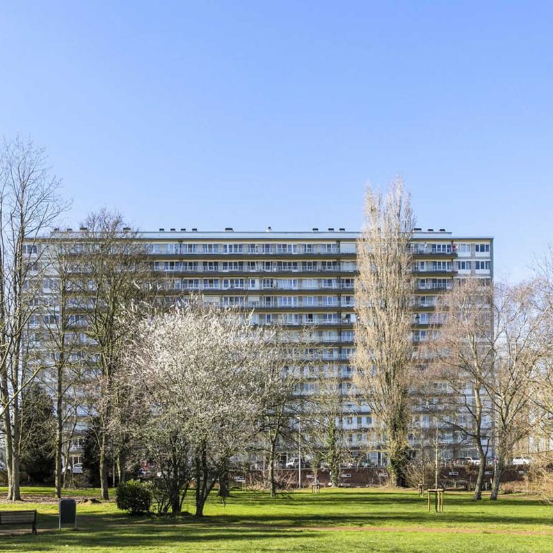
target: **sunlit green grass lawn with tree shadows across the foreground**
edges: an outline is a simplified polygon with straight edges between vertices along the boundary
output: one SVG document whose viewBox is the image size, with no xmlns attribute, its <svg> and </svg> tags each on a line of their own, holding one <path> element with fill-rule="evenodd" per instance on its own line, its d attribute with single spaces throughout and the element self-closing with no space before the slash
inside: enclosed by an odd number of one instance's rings
<svg viewBox="0 0 553 553">
<path fill-rule="evenodd" d="M 38 535 L 0 531 L 1 552 L 553 552 L 553 506 L 523 495 L 474 503 L 468 493 L 451 492 L 445 495 L 444 513 L 428 513 L 425 499 L 413 491 L 325 489 L 278 499 L 234 491 L 226 504 L 212 497 L 200 521 L 131 517 L 113 502 L 79 503 L 79 528 L 62 531 L 57 530 L 57 504 L 40 502 L 51 495 L 51 488 L 24 488 L 26 500 L 0 505 L 39 513 Z M 97 497 L 98 490 L 72 495 Z"/>
</svg>

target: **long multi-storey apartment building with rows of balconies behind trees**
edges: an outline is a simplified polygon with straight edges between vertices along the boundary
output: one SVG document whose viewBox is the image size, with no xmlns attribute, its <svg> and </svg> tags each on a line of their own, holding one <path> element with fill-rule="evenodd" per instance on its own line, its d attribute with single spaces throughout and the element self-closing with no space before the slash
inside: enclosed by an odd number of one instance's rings
<svg viewBox="0 0 553 553">
<path fill-rule="evenodd" d="M 358 237 L 358 232 L 346 232 L 344 228 L 314 228 L 310 232 L 276 232 L 271 227 L 266 232 L 161 228 L 142 232 L 140 240 L 152 269 L 163 275 L 168 305 L 200 292 L 205 301 L 216 305 L 251 308 L 259 325 L 313 326 L 306 351 L 312 351 L 314 364 L 342 378 L 347 398 L 344 426 L 351 449 L 355 454 L 368 454 L 380 464 L 380 454 L 371 449 L 371 413 L 349 401 Z M 79 232 L 55 230 L 47 240 L 78 244 L 80 238 Z M 417 228 L 412 251 L 417 275 L 413 340 L 419 342 L 426 338 L 434 322 L 436 298 L 451 289 L 454 280 L 492 279 L 493 240 L 458 236 L 444 229 Z M 308 394 L 310 386 L 312 383 L 306 378 L 298 393 Z M 414 416 L 420 417 L 421 428 L 431 427 L 428 415 Z M 417 439 L 415 435 L 411 438 Z M 450 456 L 469 454 L 469 447 L 455 444 L 452 438 Z"/>
</svg>

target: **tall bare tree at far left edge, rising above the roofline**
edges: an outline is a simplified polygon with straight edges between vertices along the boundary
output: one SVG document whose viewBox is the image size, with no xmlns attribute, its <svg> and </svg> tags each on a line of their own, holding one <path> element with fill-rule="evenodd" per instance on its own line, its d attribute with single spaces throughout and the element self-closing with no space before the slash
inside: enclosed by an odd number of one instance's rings
<svg viewBox="0 0 553 553">
<path fill-rule="evenodd" d="M 0 153 L 0 415 L 8 468 L 8 499 L 20 499 L 19 429 L 22 391 L 42 367 L 31 360 L 29 327 L 42 289 L 38 238 L 65 209 L 45 150 L 16 138 Z"/>
</svg>

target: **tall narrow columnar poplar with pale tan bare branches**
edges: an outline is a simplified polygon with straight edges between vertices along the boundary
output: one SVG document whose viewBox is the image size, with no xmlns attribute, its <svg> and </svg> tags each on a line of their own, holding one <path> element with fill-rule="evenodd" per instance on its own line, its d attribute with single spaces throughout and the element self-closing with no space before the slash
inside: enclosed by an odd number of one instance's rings
<svg viewBox="0 0 553 553">
<path fill-rule="evenodd" d="M 355 371 L 362 400 L 385 428 L 390 483 L 405 486 L 412 374 L 410 195 L 397 178 L 385 196 L 367 187 L 355 285 Z"/>
</svg>

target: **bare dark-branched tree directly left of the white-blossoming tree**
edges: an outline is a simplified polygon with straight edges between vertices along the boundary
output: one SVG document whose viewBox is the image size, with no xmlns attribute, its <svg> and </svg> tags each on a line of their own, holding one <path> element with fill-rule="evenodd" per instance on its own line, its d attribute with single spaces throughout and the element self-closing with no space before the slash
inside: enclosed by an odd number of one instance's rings
<svg viewBox="0 0 553 553">
<path fill-rule="evenodd" d="M 90 416 L 97 417 L 93 428 L 99 449 L 100 486 L 102 498 L 108 499 L 110 452 L 118 456 L 120 467 L 125 466 L 125 451 L 113 451 L 109 436 L 115 401 L 111 388 L 127 332 L 121 314 L 131 303 L 150 294 L 152 273 L 138 233 L 126 227 L 118 213 L 102 209 L 88 215 L 76 238 L 79 278 L 73 282 L 87 302 L 81 316 L 90 342 L 87 408 Z"/>
</svg>

